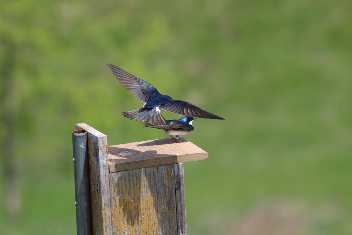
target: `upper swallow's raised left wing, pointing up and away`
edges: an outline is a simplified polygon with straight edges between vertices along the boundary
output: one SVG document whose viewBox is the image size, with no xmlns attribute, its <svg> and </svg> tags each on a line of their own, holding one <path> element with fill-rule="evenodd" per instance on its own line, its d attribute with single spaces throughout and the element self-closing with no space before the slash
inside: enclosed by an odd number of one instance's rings
<svg viewBox="0 0 352 235">
<path fill-rule="evenodd" d="M 119 80 L 122 86 L 124 86 L 128 91 L 132 92 L 132 94 L 140 101 L 146 103 L 152 93 L 158 92 L 158 90 L 153 85 L 140 78 L 137 78 L 136 76 L 133 76 L 130 73 L 127 73 L 125 70 L 122 70 L 113 64 L 107 64 L 107 66 Z"/>
</svg>

